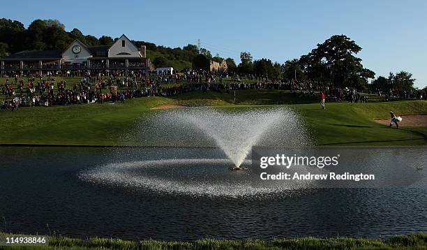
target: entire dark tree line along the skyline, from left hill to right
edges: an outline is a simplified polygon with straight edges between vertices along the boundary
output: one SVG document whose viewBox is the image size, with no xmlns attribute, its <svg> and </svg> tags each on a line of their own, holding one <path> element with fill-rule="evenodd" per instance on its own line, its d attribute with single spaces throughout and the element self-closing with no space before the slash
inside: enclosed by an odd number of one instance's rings
<svg viewBox="0 0 427 250">
<path fill-rule="evenodd" d="M 34 20 L 26 29 L 17 20 L 0 19 L 0 57 L 22 50 L 65 50 L 75 39 L 90 46 L 112 45 L 118 38 L 84 35 L 79 29 L 66 31 L 59 20 Z M 186 68 L 208 70 L 210 61 L 223 61 L 219 54 L 215 57 L 209 50 L 188 44 L 181 47 L 164 47 L 145 41 L 133 41 L 137 47 L 147 47 L 147 57 L 156 67 L 172 66 L 177 71 Z M 241 52 L 240 62 L 227 58 L 228 71 L 234 75 L 253 75 L 267 80 L 316 80 L 332 82 L 337 87 L 358 89 L 412 89 L 412 74 L 401 71 L 391 73 L 388 78 L 364 68 L 357 54 L 362 48 L 345 35 L 335 35 L 324 41 L 299 59 L 285 61 L 284 64 L 271 59 L 253 60 L 250 52 Z"/>
</svg>

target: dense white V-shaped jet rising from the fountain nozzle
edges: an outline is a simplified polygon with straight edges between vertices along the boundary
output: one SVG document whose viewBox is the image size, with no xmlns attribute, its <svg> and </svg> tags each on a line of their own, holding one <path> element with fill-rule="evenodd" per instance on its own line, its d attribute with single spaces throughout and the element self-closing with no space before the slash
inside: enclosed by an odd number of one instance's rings
<svg viewBox="0 0 427 250">
<path fill-rule="evenodd" d="M 193 109 L 177 110 L 170 119 L 181 126 L 193 126 L 212 138 L 234 163 L 233 170 L 240 170 L 241 163 L 250 149 L 257 144 L 289 146 L 307 142 L 297 115 L 289 108 L 241 111 Z M 299 140 L 294 140 L 294 137 Z M 292 138 L 293 137 L 293 138 Z M 290 142 L 290 139 L 293 142 Z"/>
</svg>

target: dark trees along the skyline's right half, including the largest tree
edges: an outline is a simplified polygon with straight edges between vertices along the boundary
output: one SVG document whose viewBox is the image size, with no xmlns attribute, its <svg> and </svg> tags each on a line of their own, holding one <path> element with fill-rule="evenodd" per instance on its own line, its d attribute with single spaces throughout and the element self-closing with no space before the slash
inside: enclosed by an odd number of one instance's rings
<svg viewBox="0 0 427 250">
<path fill-rule="evenodd" d="M 375 79 L 375 73 L 364 68 L 357 54 L 362 48 L 345 35 L 335 35 L 302 55 L 299 59 L 285 61 L 284 64 L 270 59 L 253 60 L 250 52 L 241 52 L 240 63 L 226 59 L 231 73 L 254 75 L 267 80 L 313 80 L 331 82 L 336 87 L 357 89 L 413 89 L 415 79 L 406 71 L 390 73 L 389 78 Z M 209 53 L 200 53 L 195 59 L 197 68 L 207 68 Z M 375 79 L 375 80 L 374 80 Z M 369 83 L 369 80 L 371 82 Z"/>
</svg>

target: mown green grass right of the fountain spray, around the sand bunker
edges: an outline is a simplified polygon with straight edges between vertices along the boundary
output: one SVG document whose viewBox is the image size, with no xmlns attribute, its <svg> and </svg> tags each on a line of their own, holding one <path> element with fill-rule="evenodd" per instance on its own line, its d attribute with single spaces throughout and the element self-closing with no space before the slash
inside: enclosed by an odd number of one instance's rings
<svg viewBox="0 0 427 250">
<path fill-rule="evenodd" d="M 326 110 L 317 104 L 294 105 L 310 129 L 316 145 L 410 146 L 426 145 L 426 127 L 389 128 L 374 119 L 427 113 L 426 101 L 392 103 L 329 103 Z"/>
</svg>

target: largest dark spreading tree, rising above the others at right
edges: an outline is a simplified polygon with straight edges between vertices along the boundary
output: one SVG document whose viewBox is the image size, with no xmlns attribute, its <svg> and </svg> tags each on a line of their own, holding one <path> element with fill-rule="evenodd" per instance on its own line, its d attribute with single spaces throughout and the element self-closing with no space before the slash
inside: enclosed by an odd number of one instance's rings
<svg viewBox="0 0 427 250">
<path fill-rule="evenodd" d="M 368 82 L 368 78 L 375 76 L 355 56 L 361 49 L 347 36 L 335 35 L 303 55 L 300 63 L 311 79 L 329 80 L 340 87 L 361 88 Z"/>
</svg>

